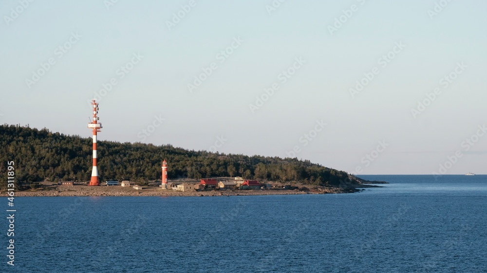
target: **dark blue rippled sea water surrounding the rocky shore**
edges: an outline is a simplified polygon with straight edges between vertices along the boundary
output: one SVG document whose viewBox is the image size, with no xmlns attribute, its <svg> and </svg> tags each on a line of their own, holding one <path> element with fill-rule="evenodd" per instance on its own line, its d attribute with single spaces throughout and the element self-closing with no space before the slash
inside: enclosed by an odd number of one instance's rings
<svg viewBox="0 0 487 273">
<path fill-rule="evenodd" d="M 486 272 L 487 176 L 355 194 L 16 199 L 0 272 Z M 5 203 L 6 198 L 2 198 Z"/>
</svg>

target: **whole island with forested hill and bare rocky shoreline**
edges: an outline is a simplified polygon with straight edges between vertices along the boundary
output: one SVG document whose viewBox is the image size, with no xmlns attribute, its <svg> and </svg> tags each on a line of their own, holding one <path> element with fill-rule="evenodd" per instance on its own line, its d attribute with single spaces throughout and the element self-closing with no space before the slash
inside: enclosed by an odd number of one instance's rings
<svg viewBox="0 0 487 273">
<path fill-rule="evenodd" d="M 370 182 L 344 171 L 297 158 L 248 156 L 187 150 L 171 145 L 98 141 L 100 181 L 121 185 L 89 186 L 92 139 L 20 125 L 0 126 L 0 191 L 6 196 L 7 162 L 15 163 L 16 196 L 230 196 L 352 193 L 385 182 Z M 170 162 L 170 186 L 161 164 Z M 252 187 L 201 187 L 178 184 L 212 179 L 257 181 Z M 237 184 L 237 183 L 236 183 Z M 139 187 L 134 188 L 137 185 Z M 188 186 L 189 187 L 189 186 Z"/>
</svg>

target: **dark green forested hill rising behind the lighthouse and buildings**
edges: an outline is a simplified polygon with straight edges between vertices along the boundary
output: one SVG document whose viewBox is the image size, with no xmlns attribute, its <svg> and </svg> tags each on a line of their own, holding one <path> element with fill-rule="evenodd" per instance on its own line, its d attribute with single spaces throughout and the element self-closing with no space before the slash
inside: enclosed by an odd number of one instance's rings
<svg viewBox="0 0 487 273">
<path fill-rule="evenodd" d="M 168 161 L 170 178 L 242 176 L 245 179 L 302 182 L 339 186 L 349 182 L 346 172 L 298 159 L 245 156 L 186 150 L 171 145 L 98 141 L 98 168 L 102 181 L 157 180 L 161 163 Z M 89 181 L 92 139 L 21 127 L 0 126 L 0 174 L 6 181 L 7 162 L 14 161 L 18 182 Z M 355 181 L 355 179 L 352 179 Z"/>
</svg>

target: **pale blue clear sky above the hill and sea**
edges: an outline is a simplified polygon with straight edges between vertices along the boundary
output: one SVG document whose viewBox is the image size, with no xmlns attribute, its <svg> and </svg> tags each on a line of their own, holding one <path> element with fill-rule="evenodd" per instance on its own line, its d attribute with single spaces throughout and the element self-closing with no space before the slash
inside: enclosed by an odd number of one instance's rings
<svg viewBox="0 0 487 273">
<path fill-rule="evenodd" d="M 352 174 L 486 174 L 485 10 L 482 0 L 6 0 L 0 123 L 90 137 L 95 97 L 99 140 Z"/>
</svg>

